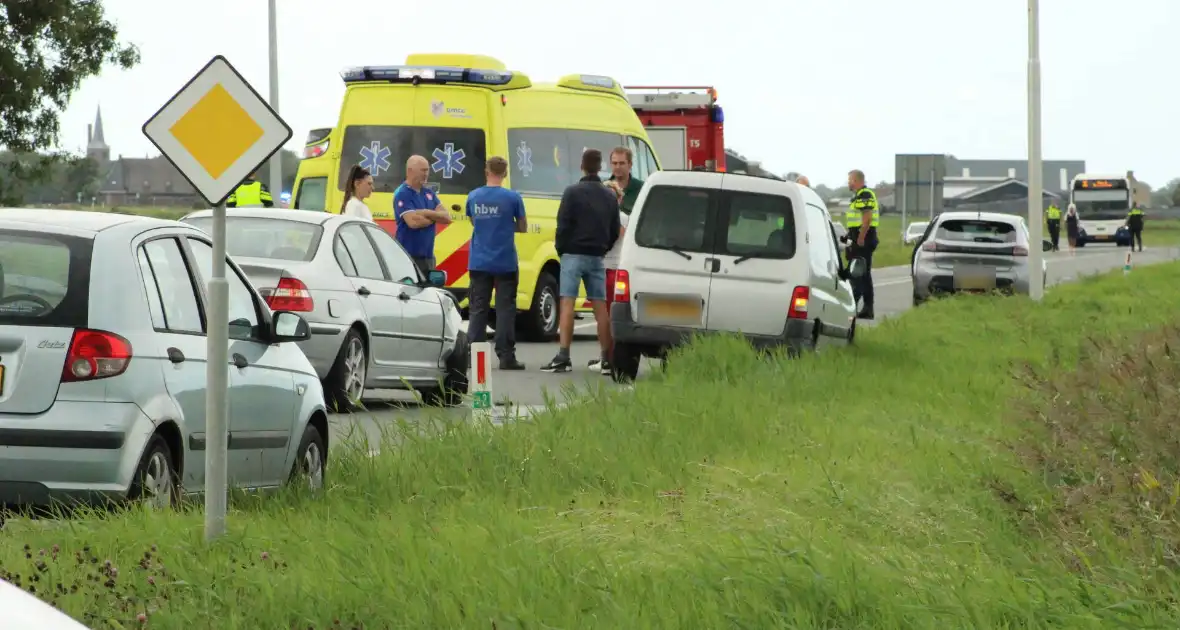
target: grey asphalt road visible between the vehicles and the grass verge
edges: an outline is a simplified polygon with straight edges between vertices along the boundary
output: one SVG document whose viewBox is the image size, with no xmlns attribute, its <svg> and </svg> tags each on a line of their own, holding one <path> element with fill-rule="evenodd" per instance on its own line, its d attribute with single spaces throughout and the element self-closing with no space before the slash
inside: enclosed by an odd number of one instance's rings
<svg viewBox="0 0 1180 630">
<path fill-rule="evenodd" d="M 1079 276 L 1100 274 L 1121 268 L 1127 250 L 1114 245 L 1088 245 L 1079 249 L 1074 256 L 1067 252 L 1049 254 L 1049 286 L 1069 282 Z M 1134 264 L 1150 264 L 1180 257 L 1178 248 L 1149 248 L 1134 255 Z M 877 288 L 878 319 L 897 316 L 911 308 L 913 290 L 909 267 L 886 267 L 873 270 L 873 286 Z M 879 320 L 878 320 L 879 321 Z M 876 322 L 861 322 L 873 326 Z M 575 343 L 571 348 L 573 372 L 565 374 L 545 374 L 540 366 L 552 359 L 557 350 L 556 343 L 520 343 L 517 355 L 527 366 L 524 372 L 493 372 L 492 385 L 498 401 L 510 400 L 514 407 L 502 409 L 506 418 L 526 415 L 531 409 L 544 406 L 546 395 L 558 402 L 570 393 L 585 391 L 590 387 L 620 387 L 609 376 L 591 373 L 586 361 L 598 354 L 598 342 L 594 320 L 589 316 L 577 322 Z M 640 379 L 655 366 L 644 365 Z M 467 413 L 465 408 L 442 411 L 421 408 L 412 401 L 408 394 L 401 392 L 369 392 L 365 400 L 366 411 L 333 418 L 334 434 L 341 435 L 355 429 L 363 431 L 371 440 L 379 438 L 381 427 L 396 419 L 415 424 L 428 414 Z"/>
</svg>

